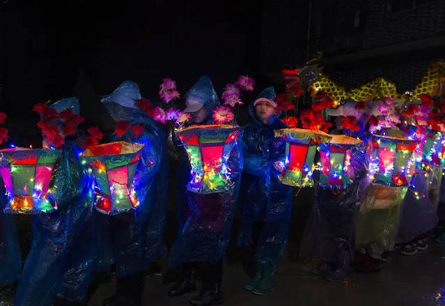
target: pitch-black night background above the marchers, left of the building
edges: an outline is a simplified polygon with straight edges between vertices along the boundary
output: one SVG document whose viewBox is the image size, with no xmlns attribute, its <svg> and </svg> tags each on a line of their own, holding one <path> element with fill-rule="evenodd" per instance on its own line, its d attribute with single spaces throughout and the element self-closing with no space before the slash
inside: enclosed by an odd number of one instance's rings
<svg viewBox="0 0 445 306">
<path fill-rule="evenodd" d="M 98 97 L 125 79 L 150 99 L 164 77 L 182 94 L 203 74 L 219 95 L 240 74 L 256 79 L 257 91 L 268 85 L 259 72 L 261 1 L 9 0 L 0 11 L 1 111 L 32 118 L 28 130 L 38 132 L 33 105 L 72 95 L 88 126 L 109 128 Z"/>
</svg>

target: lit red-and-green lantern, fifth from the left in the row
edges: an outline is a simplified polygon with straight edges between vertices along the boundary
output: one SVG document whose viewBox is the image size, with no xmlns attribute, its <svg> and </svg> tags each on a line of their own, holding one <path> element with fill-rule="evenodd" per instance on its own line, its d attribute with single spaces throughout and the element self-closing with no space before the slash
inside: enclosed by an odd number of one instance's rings
<svg viewBox="0 0 445 306">
<path fill-rule="evenodd" d="M 350 149 L 361 141 L 345 135 L 331 135 L 329 143 L 319 144 L 320 150 L 320 185 L 345 188 L 351 181 L 348 174 Z"/>
</svg>

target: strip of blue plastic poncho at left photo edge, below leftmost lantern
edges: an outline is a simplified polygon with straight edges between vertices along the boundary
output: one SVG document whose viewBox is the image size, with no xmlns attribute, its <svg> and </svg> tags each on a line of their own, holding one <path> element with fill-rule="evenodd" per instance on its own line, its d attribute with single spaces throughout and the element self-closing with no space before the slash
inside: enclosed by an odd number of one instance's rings
<svg viewBox="0 0 445 306">
<path fill-rule="evenodd" d="M 13 284 L 22 268 L 22 254 L 13 215 L 3 213 L 6 196 L 0 183 L 0 284 Z"/>
</svg>

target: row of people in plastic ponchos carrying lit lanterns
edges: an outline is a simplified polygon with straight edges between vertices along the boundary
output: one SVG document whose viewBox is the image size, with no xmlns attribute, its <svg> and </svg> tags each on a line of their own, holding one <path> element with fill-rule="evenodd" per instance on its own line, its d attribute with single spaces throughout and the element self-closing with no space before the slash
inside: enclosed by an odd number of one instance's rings
<svg viewBox="0 0 445 306">
<path fill-rule="evenodd" d="M 288 93 L 295 97 L 292 86 L 295 84 L 288 86 Z M 228 86 L 223 95 L 224 105 L 241 103 L 243 89 L 253 90 L 253 81 L 241 77 L 237 87 Z M 161 92 L 167 103 L 178 98 L 171 80 L 164 82 Z M 318 188 L 315 202 L 300 247 L 302 257 L 320 261 L 312 272 L 325 280 L 339 281 L 349 276 L 352 263 L 357 272 L 369 273 L 379 270 L 380 263 L 397 247 L 405 255 L 426 250 L 432 230 L 438 222 L 441 224 L 440 220 L 445 220 L 442 161 L 429 159 L 438 146 L 422 151 L 427 133 L 435 131 L 442 135 L 445 131 L 441 97 L 423 95 L 404 104 L 399 101 L 400 105 L 382 95 L 366 102 L 349 101 L 341 105 L 327 95 L 318 93 L 315 97 L 311 109 L 300 116 L 302 127 L 325 130 L 329 137 L 347 135 L 348 139 L 358 140 L 348 147 L 348 169 L 340 169 L 348 174 L 348 183 L 315 185 Z M 13 285 L 20 280 L 16 306 L 82 305 L 93 275 L 110 270 L 111 263 L 116 268 L 116 292 L 103 305 L 142 305 L 147 268 L 157 263 L 166 250 L 163 234 L 169 192 L 167 138 L 171 135 L 166 135 L 159 121 L 173 120 L 180 124 L 179 129 L 217 127 L 229 121 L 237 127 L 235 118 L 227 115 L 230 109 L 221 105 L 206 76 L 185 95 L 183 112 L 154 107 L 141 96 L 138 86 L 129 81 L 101 101 L 116 121 L 113 141 L 144 144 L 130 183 L 138 204 L 116 215 L 95 209 L 97 200 L 91 190 L 97 188 L 97 183 L 91 172 L 84 171 L 79 151 L 97 144 L 95 140 L 102 135 L 95 138 L 92 130 L 88 130 L 89 137 L 79 131 L 66 132 L 72 118 L 80 114 L 76 98 L 63 99 L 49 107 L 36 106 L 40 122 L 45 122 L 45 126 L 39 125 L 43 148 L 52 147 L 56 144 L 54 139 L 62 137 L 58 141 L 61 157 L 52 174 L 52 184 L 56 186 L 52 196 L 57 209 L 33 215 L 31 252 L 19 277 L 22 263 L 17 233 L 10 215 L 3 213 L 9 205 L 8 192 L 3 190 L 6 197 L 0 197 L 0 284 Z M 166 270 L 180 273 L 169 296 L 196 293 L 190 300 L 192 305 L 224 302 L 221 276 L 237 203 L 241 208 L 237 243 L 240 250 L 254 250 L 256 261 L 256 275 L 244 289 L 256 295 L 274 289 L 276 265 L 288 243 L 293 199 L 292 186 L 282 181 L 289 150 L 276 131 L 296 128 L 297 118 L 280 118 L 282 112 L 290 109 L 295 109 L 295 105 L 288 97 L 276 95 L 272 87 L 264 89 L 250 103 L 251 121 L 233 134 L 234 144 L 224 152 L 224 168 L 230 183 L 217 192 L 190 188 L 189 183 L 197 177 L 193 160 L 189 148 L 173 137 L 172 144 L 176 147 L 173 151 L 178 151 L 180 159 L 175 178 L 178 237 L 169 252 Z M 221 121 L 221 112 L 225 112 L 228 121 Z M 65 116 L 67 113 L 70 116 Z M 329 116 L 333 119 L 332 128 L 326 119 Z M 412 126 L 416 128 L 413 130 Z M 54 128 L 56 135 L 48 132 Z M 175 128 L 178 130 L 178 126 Z M 389 150 L 393 153 L 389 166 L 385 164 L 388 160 L 382 164 L 380 155 L 382 143 L 387 140 L 399 141 Z M 434 140 L 444 141 L 440 137 Z M 415 148 L 411 148 L 412 144 Z M 408 152 L 409 156 L 401 158 L 399 151 Z M 442 151 L 437 156 L 442 158 Z M 318 160 L 315 155 L 314 167 L 306 171 L 307 175 L 315 176 L 317 169 L 322 171 L 315 167 Z M 376 160 L 378 169 L 373 172 Z M 395 168 L 402 171 L 394 174 Z M 384 183 L 384 176 L 389 176 L 390 181 Z M 400 183 L 403 180 L 406 183 Z M 445 234 L 439 234 L 436 240 L 444 243 Z M 195 280 L 198 268 L 204 271 L 203 288 L 199 291 Z"/>
</svg>

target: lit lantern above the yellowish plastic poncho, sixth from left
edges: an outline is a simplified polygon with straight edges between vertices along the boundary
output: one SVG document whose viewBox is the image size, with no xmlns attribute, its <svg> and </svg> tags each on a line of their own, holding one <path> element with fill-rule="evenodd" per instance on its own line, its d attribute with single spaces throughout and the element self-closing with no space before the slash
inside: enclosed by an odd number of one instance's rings
<svg viewBox="0 0 445 306">
<path fill-rule="evenodd" d="M 405 176 L 409 158 L 420 141 L 407 138 L 373 136 L 371 176 L 374 183 L 388 186 L 408 185 Z"/>
</svg>

